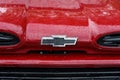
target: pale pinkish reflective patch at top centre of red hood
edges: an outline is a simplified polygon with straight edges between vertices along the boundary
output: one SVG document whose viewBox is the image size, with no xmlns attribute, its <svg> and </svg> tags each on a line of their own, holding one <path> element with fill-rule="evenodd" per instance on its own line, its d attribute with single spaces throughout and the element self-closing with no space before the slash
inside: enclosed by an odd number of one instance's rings
<svg viewBox="0 0 120 80">
<path fill-rule="evenodd" d="M 77 0 L 29 0 L 31 7 L 79 9 Z"/>
</svg>

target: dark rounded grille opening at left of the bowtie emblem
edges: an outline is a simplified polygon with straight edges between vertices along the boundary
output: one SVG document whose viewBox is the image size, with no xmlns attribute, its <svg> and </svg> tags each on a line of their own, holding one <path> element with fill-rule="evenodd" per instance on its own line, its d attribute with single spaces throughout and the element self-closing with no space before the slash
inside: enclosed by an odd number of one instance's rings
<svg viewBox="0 0 120 80">
<path fill-rule="evenodd" d="M 17 36 L 6 32 L 0 32 L 0 46 L 15 45 L 19 42 L 20 40 Z"/>
</svg>

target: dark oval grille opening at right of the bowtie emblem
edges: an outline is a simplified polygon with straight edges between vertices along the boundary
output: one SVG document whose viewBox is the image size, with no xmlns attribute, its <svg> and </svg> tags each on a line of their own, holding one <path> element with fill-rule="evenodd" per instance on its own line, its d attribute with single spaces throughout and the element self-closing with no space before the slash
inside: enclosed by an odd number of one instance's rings
<svg viewBox="0 0 120 80">
<path fill-rule="evenodd" d="M 110 34 L 101 37 L 98 41 L 98 44 L 106 47 L 119 47 L 120 48 L 120 33 Z"/>
</svg>

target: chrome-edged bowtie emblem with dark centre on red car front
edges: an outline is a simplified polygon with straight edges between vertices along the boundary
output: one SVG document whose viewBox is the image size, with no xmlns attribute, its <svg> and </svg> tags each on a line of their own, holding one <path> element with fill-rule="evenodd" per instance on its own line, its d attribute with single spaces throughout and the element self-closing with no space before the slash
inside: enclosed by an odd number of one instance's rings
<svg viewBox="0 0 120 80">
<path fill-rule="evenodd" d="M 52 45 L 53 47 L 65 47 L 66 45 L 76 45 L 76 37 L 66 37 L 63 35 L 53 35 L 52 37 L 43 37 L 41 45 Z"/>
</svg>

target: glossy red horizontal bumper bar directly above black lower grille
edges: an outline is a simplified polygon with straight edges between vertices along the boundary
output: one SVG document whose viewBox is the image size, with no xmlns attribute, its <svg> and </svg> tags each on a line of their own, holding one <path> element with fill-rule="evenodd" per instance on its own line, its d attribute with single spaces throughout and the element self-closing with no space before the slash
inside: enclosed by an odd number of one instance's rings
<svg viewBox="0 0 120 80">
<path fill-rule="evenodd" d="M 101 68 L 119 67 L 118 55 L 1 55 L 1 67 Z"/>
</svg>

